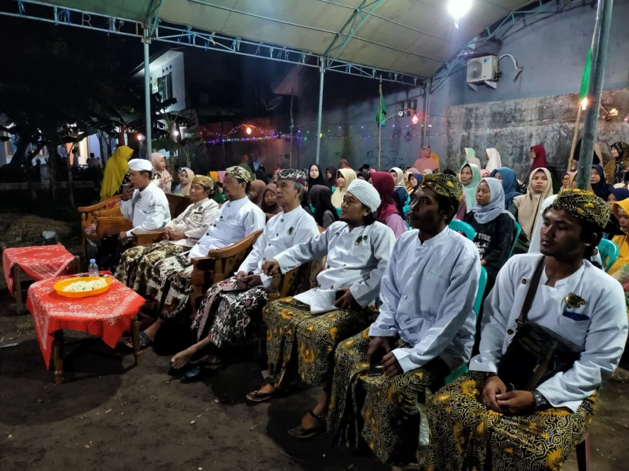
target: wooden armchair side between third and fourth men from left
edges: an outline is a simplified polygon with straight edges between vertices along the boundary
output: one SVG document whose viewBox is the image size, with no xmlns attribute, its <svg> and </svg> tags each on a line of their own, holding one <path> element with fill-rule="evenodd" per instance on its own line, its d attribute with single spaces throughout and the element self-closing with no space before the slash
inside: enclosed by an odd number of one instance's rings
<svg viewBox="0 0 629 471">
<path fill-rule="evenodd" d="M 256 230 L 245 239 L 210 251 L 207 257 L 192 259 L 190 304 L 193 313 L 196 313 L 201 299 L 205 296 L 205 292 L 210 289 L 210 286 L 229 278 L 240 267 L 260 234 L 262 234 L 262 230 Z"/>
</svg>

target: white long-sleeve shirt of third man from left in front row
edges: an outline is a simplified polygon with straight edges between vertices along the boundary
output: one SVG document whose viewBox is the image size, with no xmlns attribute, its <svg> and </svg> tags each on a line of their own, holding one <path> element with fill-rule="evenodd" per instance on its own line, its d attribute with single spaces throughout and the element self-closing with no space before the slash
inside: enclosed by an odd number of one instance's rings
<svg viewBox="0 0 629 471">
<path fill-rule="evenodd" d="M 215 248 L 223 248 L 263 229 L 266 216 L 262 210 L 244 197 L 228 201 L 219 209 L 214 223 L 188 253 L 188 262 L 196 257 L 207 257 Z"/>
</svg>

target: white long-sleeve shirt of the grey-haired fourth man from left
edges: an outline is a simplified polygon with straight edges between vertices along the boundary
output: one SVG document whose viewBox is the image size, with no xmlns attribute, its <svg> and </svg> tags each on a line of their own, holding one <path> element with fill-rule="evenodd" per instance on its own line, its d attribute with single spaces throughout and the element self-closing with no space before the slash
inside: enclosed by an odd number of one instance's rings
<svg viewBox="0 0 629 471">
<path fill-rule="evenodd" d="M 279 213 L 268 220 L 252 251 L 240 264 L 238 271 L 259 274 L 262 284 L 270 287 L 270 276 L 262 273 L 262 265 L 287 248 L 302 244 L 319 234 L 315 218 L 301 206 L 287 213 Z"/>
</svg>

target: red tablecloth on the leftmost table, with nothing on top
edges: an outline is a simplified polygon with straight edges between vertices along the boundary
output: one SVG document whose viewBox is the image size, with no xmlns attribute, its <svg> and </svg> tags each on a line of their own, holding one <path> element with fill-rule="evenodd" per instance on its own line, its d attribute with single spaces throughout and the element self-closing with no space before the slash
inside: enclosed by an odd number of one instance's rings
<svg viewBox="0 0 629 471">
<path fill-rule="evenodd" d="M 66 251 L 62 245 L 7 248 L 2 255 L 4 279 L 10 294 L 13 296 L 13 264 L 20 268 L 35 281 L 46 280 L 67 273 L 68 265 L 74 255 Z"/>
</svg>

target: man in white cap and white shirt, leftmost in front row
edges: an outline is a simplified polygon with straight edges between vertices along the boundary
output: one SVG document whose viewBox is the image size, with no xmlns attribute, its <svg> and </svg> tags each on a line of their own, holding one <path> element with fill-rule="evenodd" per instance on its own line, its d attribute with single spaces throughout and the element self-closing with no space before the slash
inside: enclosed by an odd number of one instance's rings
<svg viewBox="0 0 629 471">
<path fill-rule="evenodd" d="M 159 230 L 171 220 L 171 211 L 164 192 L 151 181 L 153 167 L 148 160 L 129 160 L 129 185 L 120 196 L 122 216 L 133 223 L 133 228 L 120 232 L 118 237 L 110 234 L 103 238 L 96 252 L 96 263 L 100 269 L 115 271 L 120 253 L 129 248 L 135 230 Z"/>
</svg>

